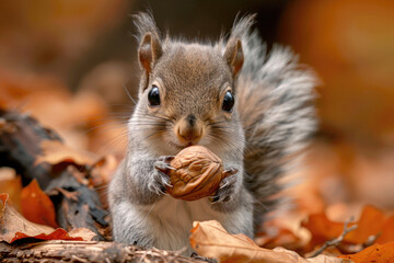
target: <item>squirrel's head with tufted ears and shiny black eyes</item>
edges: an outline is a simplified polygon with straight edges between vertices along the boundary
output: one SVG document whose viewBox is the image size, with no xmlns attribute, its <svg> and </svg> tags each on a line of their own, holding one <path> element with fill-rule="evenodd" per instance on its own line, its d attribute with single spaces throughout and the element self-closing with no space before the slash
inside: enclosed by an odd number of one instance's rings
<svg viewBox="0 0 394 263">
<path fill-rule="evenodd" d="M 176 150 L 240 138 L 236 78 L 244 61 L 241 38 L 252 22 L 240 20 L 224 45 L 212 46 L 162 38 L 151 15 L 136 15 L 143 73 L 135 116 L 152 124 L 147 137 Z"/>
</svg>

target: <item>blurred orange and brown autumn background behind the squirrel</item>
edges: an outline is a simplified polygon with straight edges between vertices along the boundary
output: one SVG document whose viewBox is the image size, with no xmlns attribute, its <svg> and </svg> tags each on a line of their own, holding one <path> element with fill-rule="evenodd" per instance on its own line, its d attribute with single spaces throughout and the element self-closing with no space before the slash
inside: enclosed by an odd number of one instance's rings
<svg viewBox="0 0 394 263">
<path fill-rule="evenodd" d="M 0 107 L 28 112 L 67 144 L 123 156 L 139 68 L 130 14 L 218 39 L 257 13 L 268 47 L 289 45 L 318 75 L 320 129 L 292 193 L 333 219 L 363 204 L 394 208 L 394 1 L 0 1 Z M 357 213 L 356 213 L 357 215 Z"/>
</svg>

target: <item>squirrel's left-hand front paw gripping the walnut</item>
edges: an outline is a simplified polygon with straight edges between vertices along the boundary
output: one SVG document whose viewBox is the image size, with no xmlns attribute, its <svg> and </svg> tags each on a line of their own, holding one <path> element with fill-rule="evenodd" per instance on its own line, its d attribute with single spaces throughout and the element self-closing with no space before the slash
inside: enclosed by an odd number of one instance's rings
<svg viewBox="0 0 394 263">
<path fill-rule="evenodd" d="M 171 187 L 170 178 L 166 175 L 166 172 L 174 170 L 174 168 L 170 165 L 172 159 L 174 159 L 174 157 L 162 156 L 154 162 L 155 171 L 153 173 L 153 180 L 148 184 L 148 187 L 158 195 L 165 194 L 165 187 Z"/>
</svg>

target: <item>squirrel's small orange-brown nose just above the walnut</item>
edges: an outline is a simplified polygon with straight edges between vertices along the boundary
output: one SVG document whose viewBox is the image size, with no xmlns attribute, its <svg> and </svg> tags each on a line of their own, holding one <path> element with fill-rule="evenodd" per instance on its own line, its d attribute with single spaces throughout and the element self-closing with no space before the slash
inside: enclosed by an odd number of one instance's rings
<svg viewBox="0 0 394 263">
<path fill-rule="evenodd" d="M 188 115 L 177 125 L 176 136 L 182 145 L 195 145 L 201 139 L 202 125 L 194 115 Z"/>
</svg>

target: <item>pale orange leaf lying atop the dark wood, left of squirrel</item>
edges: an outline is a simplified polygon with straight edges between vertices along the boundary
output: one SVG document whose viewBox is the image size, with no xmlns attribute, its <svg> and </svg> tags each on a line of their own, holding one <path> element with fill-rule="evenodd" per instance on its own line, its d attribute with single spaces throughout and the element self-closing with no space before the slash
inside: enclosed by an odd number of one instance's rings
<svg viewBox="0 0 394 263">
<path fill-rule="evenodd" d="M 97 160 L 91 152 L 74 150 L 57 140 L 44 140 L 42 150 L 43 155 L 37 158 L 36 164 L 42 162 L 50 164 L 73 162 L 78 165 L 92 165 Z"/>
</svg>

